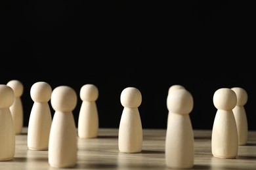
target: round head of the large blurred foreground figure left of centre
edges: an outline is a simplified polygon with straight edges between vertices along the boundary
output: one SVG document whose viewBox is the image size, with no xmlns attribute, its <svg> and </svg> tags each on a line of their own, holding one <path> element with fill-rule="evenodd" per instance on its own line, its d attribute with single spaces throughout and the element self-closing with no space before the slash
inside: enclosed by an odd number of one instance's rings
<svg viewBox="0 0 256 170">
<path fill-rule="evenodd" d="M 77 104 L 77 95 L 70 86 L 58 86 L 51 95 L 53 109 L 60 112 L 71 112 Z"/>
</svg>

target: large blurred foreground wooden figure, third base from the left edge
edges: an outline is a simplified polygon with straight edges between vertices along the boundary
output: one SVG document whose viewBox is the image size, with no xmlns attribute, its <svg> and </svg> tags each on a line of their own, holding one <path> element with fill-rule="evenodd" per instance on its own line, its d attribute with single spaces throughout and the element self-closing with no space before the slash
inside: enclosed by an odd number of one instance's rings
<svg viewBox="0 0 256 170">
<path fill-rule="evenodd" d="M 48 161 L 51 167 L 74 167 L 77 161 L 77 132 L 72 111 L 77 95 L 70 86 L 58 86 L 51 95 L 55 110 L 51 125 Z"/>
</svg>

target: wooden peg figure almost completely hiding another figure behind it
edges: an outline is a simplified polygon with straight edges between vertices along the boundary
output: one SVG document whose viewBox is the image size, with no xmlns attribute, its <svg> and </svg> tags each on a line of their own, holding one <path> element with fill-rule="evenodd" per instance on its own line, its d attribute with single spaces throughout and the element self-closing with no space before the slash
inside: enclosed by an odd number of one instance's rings
<svg viewBox="0 0 256 170">
<path fill-rule="evenodd" d="M 177 89 L 167 97 L 169 119 L 165 138 L 165 164 L 175 169 L 194 166 L 194 132 L 190 112 L 194 107 L 188 90 Z"/>
</svg>

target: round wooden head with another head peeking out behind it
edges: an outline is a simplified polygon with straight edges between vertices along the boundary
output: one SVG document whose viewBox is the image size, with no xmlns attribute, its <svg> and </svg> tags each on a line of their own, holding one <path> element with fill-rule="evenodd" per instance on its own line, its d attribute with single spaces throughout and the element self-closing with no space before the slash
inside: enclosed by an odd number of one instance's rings
<svg viewBox="0 0 256 170">
<path fill-rule="evenodd" d="M 194 100 L 186 89 L 177 89 L 167 97 L 167 109 L 169 112 L 178 114 L 189 114 L 194 107 Z"/>
</svg>

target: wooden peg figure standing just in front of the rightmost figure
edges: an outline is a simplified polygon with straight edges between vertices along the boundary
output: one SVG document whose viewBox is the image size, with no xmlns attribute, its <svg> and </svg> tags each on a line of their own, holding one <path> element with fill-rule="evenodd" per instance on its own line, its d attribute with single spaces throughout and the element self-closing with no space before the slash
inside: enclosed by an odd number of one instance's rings
<svg viewBox="0 0 256 170">
<path fill-rule="evenodd" d="M 211 134 L 211 152 L 216 158 L 236 158 L 238 155 L 238 130 L 232 111 L 236 102 L 236 93 L 230 88 L 220 88 L 213 95 L 217 113 Z"/>
</svg>

